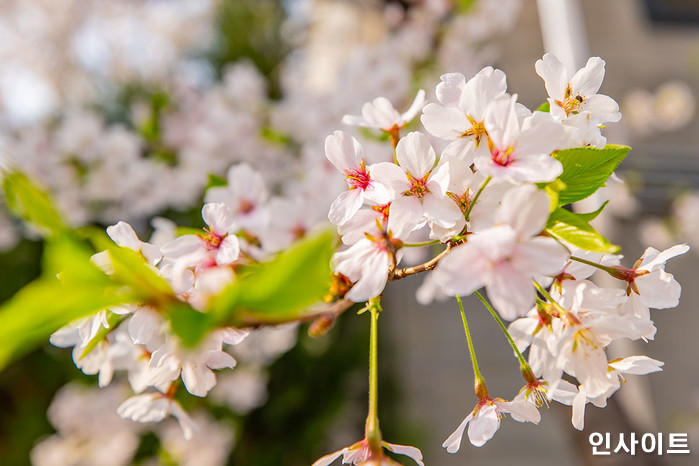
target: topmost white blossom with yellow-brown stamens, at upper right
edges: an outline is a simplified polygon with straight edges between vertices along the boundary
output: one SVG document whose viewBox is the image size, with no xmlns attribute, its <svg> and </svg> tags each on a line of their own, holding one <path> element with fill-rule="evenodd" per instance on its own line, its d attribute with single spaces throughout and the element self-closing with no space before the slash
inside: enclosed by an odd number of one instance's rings
<svg viewBox="0 0 699 466">
<path fill-rule="evenodd" d="M 561 120 L 590 112 L 599 123 L 619 121 L 619 105 L 611 97 L 597 93 L 604 79 L 604 65 L 604 60 L 592 57 L 569 79 L 568 71 L 555 55 L 547 53 L 538 60 L 535 68 L 546 84 L 551 114 Z"/>
</svg>

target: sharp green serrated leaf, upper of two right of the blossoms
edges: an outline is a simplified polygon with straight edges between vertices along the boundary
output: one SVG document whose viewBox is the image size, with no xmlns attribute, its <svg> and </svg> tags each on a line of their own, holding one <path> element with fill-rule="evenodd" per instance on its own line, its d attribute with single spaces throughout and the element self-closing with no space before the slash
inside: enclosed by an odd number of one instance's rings
<svg viewBox="0 0 699 466">
<path fill-rule="evenodd" d="M 604 186 L 611 174 L 631 150 L 627 146 L 607 144 L 604 149 L 580 147 L 553 154 L 563 165 L 557 181 L 565 188 L 558 191 L 558 205 L 576 202 Z"/>
</svg>

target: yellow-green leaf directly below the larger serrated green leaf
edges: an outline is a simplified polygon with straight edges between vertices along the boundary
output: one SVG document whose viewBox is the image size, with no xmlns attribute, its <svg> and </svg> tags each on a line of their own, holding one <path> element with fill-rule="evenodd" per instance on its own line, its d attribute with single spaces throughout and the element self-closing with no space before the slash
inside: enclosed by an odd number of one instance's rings
<svg viewBox="0 0 699 466">
<path fill-rule="evenodd" d="M 596 217 L 605 205 L 606 203 L 589 214 L 576 214 L 559 207 L 551 213 L 546 232 L 586 251 L 616 254 L 620 250 L 619 246 L 611 244 L 588 222 L 588 219 Z"/>
</svg>

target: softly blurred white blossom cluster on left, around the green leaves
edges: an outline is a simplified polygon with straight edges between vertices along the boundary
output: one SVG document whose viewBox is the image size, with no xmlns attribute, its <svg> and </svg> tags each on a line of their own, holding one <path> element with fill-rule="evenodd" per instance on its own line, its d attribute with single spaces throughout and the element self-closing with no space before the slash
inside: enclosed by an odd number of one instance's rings
<svg viewBox="0 0 699 466">
<path fill-rule="evenodd" d="M 178 235 L 176 225 L 163 218 L 153 221 L 151 242 L 141 241 L 125 222 L 107 228 L 118 246 L 138 252 L 178 299 L 199 311 L 205 311 L 210 299 L 235 280 L 237 268 L 270 257 L 316 226 L 311 216 L 294 216 L 298 207 L 288 199 L 271 197 L 262 177 L 250 166 L 233 166 L 228 181 L 228 186 L 207 192 L 210 202 L 202 209 L 207 226 L 200 233 Z M 108 252 L 92 260 L 112 273 Z M 246 388 L 251 393 L 264 391 L 255 371 L 287 351 L 295 336 L 293 324 L 258 330 L 221 327 L 209 332 L 196 348 L 188 348 L 156 307 L 135 303 L 73 322 L 54 333 L 51 343 L 72 347 L 76 366 L 86 374 L 97 374 L 100 387 L 110 385 L 116 371 L 126 373 L 134 395 L 118 406 L 120 416 L 157 422 L 173 415 L 185 438 L 191 438 L 197 427 L 175 400 L 180 383 L 190 394 L 205 397 L 217 384 L 214 370 L 236 367 L 240 357 L 247 375 L 224 378 L 229 387 L 218 390 L 215 398 L 236 412 L 245 412 L 264 401 L 263 395 L 251 398 L 245 393 Z M 254 341 L 246 348 L 248 338 Z"/>
</svg>

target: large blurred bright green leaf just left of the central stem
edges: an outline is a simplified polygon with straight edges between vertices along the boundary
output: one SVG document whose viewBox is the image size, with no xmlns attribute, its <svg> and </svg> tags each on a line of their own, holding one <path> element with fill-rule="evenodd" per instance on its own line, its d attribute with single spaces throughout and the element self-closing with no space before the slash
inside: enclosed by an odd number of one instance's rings
<svg viewBox="0 0 699 466">
<path fill-rule="evenodd" d="M 330 281 L 335 235 L 300 241 L 271 262 L 251 267 L 212 303 L 219 320 L 238 324 L 294 319 L 322 300 Z"/>
</svg>

